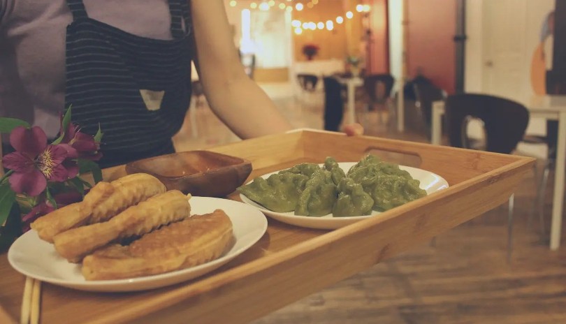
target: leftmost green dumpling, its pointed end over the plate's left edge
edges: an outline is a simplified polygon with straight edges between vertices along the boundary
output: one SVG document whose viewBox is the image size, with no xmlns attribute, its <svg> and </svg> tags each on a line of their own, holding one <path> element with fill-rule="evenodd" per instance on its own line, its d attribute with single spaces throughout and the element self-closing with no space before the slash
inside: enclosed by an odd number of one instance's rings
<svg viewBox="0 0 566 324">
<path fill-rule="evenodd" d="M 267 179 L 256 177 L 237 190 L 274 212 L 292 212 L 308 179 L 306 175 L 295 173 L 275 174 Z"/>
</svg>

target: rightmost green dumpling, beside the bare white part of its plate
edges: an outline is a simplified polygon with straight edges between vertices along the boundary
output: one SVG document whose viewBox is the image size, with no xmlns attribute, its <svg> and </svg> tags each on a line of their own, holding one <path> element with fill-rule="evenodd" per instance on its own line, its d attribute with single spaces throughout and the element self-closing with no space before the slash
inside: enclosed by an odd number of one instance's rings
<svg viewBox="0 0 566 324">
<path fill-rule="evenodd" d="M 377 175 L 362 182 L 363 188 L 374 200 L 373 209 L 380 212 L 426 196 L 426 191 L 420 189 L 419 184 L 419 180 L 400 175 Z"/>
</svg>

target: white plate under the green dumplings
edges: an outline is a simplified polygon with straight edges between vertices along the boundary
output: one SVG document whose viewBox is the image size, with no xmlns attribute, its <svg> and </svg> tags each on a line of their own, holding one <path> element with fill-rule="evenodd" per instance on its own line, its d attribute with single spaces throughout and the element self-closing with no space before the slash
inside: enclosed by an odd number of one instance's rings
<svg viewBox="0 0 566 324">
<path fill-rule="evenodd" d="M 357 162 L 341 162 L 338 163 L 340 168 L 344 170 L 344 172 L 348 172 L 350 168 L 355 165 Z M 448 182 L 440 177 L 440 175 L 436 175 L 433 172 L 422 170 L 419 168 L 412 168 L 410 166 L 399 165 L 401 170 L 407 170 L 411 177 L 417 179 L 421 182 L 421 189 L 426 190 L 426 193 L 430 195 L 435 191 L 439 191 L 445 188 L 448 188 Z M 286 170 L 286 169 L 285 169 Z M 279 171 L 271 172 L 266 175 L 262 175 L 263 179 L 267 179 L 270 175 L 277 173 Z M 249 183 L 249 182 L 248 182 Z M 288 223 L 295 226 L 306 227 L 306 228 L 317 228 L 321 230 L 334 230 L 336 228 L 341 228 L 343 226 L 347 226 L 351 223 L 355 223 L 356 221 L 361 221 L 362 219 L 367 219 L 368 217 L 375 216 L 377 214 L 381 214 L 381 212 L 376 212 L 375 210 L 372 211 L 372 214 L 368 216 L 348 216 L 348 217 L 333 217 L 332 214 L 328 214 L 326 216 L 321 217 L 312 217 L 312 216 L 297 216 L 294 212 L 273 212 L 272 210 L 266 209 L 262 205 L 250 200 L 242 193 L 240 193 L 240 199 L 243 202 L 256 207 L 257 209 L 261 210 L 263 214 L 270 216 L 273 219 L 277 219 L 277 221 L 281 221 L 282 223 Z"/>
</svg>

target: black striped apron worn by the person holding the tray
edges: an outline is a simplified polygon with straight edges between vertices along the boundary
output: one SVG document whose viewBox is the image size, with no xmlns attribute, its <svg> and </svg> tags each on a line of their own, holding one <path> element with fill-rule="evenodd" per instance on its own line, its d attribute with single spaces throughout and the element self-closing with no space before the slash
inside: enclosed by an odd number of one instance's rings
<svg viewBox="0 0 566 324">
<path fill-rule="evenodd" d="M 169 0 L 173 40 L 126 33 L 67 0 L 66 107 L 84 133 L 104 133 L 101 167 L 174 152 L 191 96 L 187 0 Z M 184 24 L 184 26 L 183 26 Z M 184 28 L 183 28 L 184 27 Z"/>
</svg>

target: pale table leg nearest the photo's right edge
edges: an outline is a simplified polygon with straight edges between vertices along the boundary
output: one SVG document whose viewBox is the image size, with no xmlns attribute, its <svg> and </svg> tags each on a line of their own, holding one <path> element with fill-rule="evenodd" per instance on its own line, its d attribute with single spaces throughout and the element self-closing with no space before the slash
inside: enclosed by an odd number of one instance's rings
<svg viewBox="0 0 566 324">
<path fill-rule="evenodd" d="M 562 229 L 562 207 L 564 197 L 564 171 L 566 159 L 566 111 L 558 115 L 558 143 L 556 147 L 556 171 L 554 175 L 554 195 L 552 200 L 551 250 L 560 246 Z"/>
</svg>

